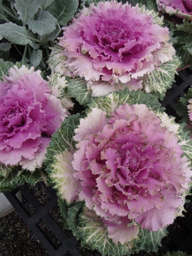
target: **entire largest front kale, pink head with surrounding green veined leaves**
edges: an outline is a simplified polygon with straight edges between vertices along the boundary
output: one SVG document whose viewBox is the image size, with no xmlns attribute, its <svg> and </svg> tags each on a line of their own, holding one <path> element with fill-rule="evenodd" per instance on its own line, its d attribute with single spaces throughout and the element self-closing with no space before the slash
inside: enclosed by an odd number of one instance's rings
<svg viewBox="0 0 192 256">
<path fill-rule="evenodd" d="M 184 126 L 156 96 L 128 89 L 64 120 L 47 171 L 83 246 L 113 256 L 158 250 L 189 194 L 192 142 Z"/>
</svg>

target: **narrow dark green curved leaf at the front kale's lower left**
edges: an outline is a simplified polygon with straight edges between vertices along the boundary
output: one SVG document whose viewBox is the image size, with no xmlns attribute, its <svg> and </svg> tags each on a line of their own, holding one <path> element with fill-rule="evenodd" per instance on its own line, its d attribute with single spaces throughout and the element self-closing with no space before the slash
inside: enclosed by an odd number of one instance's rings
<svg viewBox="0 0 192 256">
<path fill-rule="evenodd" d="M 74 236 L 77 237 L 77 239 L 80 239 L 78 234 L 78 224 L 79 224 L 78 215 L 82 206 L 83 206 L 83 202 L 78 202 L 74 206 L 70 207 L 67 213 L 68 215 L 67 224 L 70 230 L 73 231 L 73 234 Z"/>
</svg>

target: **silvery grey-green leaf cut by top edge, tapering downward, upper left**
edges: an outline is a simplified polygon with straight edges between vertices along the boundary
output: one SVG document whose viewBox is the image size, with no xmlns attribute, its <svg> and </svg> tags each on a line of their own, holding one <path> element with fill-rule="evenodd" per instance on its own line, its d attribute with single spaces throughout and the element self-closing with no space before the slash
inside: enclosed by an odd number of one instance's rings
<svg viewBox="0 0 192 256">
<path fill-rule="evenodd" d="M 26 25 L 26 22 L 37 13 L 40 5 L 40 0 L 15 0 L 15 9 L 24 26 Z"/>
</svg>

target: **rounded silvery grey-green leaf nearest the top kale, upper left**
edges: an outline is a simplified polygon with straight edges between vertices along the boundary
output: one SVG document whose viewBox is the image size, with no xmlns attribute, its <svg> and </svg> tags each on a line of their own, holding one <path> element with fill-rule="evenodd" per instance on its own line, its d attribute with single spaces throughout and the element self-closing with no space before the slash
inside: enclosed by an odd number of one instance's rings
<svg viewBox="0 0 192 256">
<path fill-rule="evenodd" d="M 58 21 L 51 13 L 49 13 L 49 11 L 40 10 L 38 19 L 30 19 L 27 24 L 33 33 L 43 36 L 51 34 L 56 29 Z"/>
</svg>

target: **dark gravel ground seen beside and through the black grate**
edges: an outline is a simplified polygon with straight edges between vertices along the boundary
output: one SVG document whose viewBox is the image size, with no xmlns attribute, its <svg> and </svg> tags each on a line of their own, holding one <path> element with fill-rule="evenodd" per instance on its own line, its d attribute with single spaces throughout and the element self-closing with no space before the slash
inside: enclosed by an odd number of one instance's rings
<svg viewBox="0 0 192 256">
<path fill-rule="evenodd" d="M 27 185 L 28 189 L 32 192 L 32 194 L 38 199 L 41 205 L 46 204 L 50 200 L 50 195 L 46 191 L 46 189 L 41 185 L 41 183 L 37 183 L 36 186 L 30 187 Z M 22 204 L 25 207 L 26 211 L 29 215 L 34 213 L 34 208 L 32 205 L 23 197 Z M 185 213 L 186 216 L 192 218 L 192 204 L 186 204 Z M 60 222 L 60 209 L 58 206 L 55 206 L 49 214 L 53 217 L 55 222 L 64 230 L 64 233 L 67 237 L 72 237 L 73 233 L 70 230 L 64 229 L 64 224 Z M 47 237 L 51 238 L 51 242 L 53 243 L 55 248 L 60 247 L 60 241 L 57 237 L 51 232 L 50 228 L 47 224 L 40 219 L 37 225 L 44 231 Z M 188 230 L 181 229 L 180 223 L 177 221 L 171 225 L 175 232 L 179 232 L 179 235 L 185 240 L 190 235 Z M 183 232 L 184 231 L 184 232 Z M 177 250 L 177 245 L 171 241 L 171 239 L 167 236 L 163 238 L 163 243 L 167 245 L 171 250 Z M 82 248 L 80 245 L 80 241 L 77 241 L 75 246 L 78 250 L 83 254 L 83 256 L 101 256 L 98 252 L 87 250 L 86 248 Z M 36 236 L 30 231 L 30 228 L 23 222 L 23 220 L 19 217 L 16 211 L 13 211 L 11 214 L 6 217 L 0 219 L 0 256 L 49 256 L 50 254 L 45 250 L 43 245 L 38 241 Z M 138 256 L 160 256 L 161 254 L 157 253 L 145 253 L 140 252 L 137 254 Z M 71 256 L 69 252 L 66 252 L 63 256 Z M 73 255 L 72 255 L 73 256 Z M 136 256 L 136 254 L 134 254 Z"/>
</svg>

